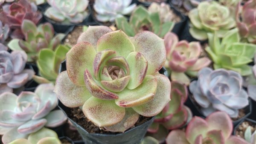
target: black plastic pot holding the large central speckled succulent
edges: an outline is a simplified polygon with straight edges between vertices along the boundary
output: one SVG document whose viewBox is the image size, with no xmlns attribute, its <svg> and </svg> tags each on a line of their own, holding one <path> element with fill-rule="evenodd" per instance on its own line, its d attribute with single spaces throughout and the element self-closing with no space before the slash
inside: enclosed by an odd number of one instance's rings
<svg viewBox="0 0 256 144">
<path fill-rule="evenodd" d="M 66 70 L 66 60 L 61 63 L 61 67 L 59 72 Z M 165 68 L 160 69 L 159 71 L 163 75 L 167 75 L 167 71 Z M 58 107 L 66 114 L 67 109 L 69 107 L 65 107 L 61 101 L 58 102 Z M 99 133 L 89 133 L 84 130 L 79 124 L 77 124 L 72 119 L 68 118 L 71 123 L 76 127 L 78 132 L 80 133 L 81 137 L 84 140 L 84 144 L 140 144 L 143 140 L 144 135 L 147 132 L 148 127 L 154 121 L 154 117 L 150 120 L 146 121 L 145 123 L 131 128 L 124 133 L 119 134 L 99 134 Z"/>
</svg>

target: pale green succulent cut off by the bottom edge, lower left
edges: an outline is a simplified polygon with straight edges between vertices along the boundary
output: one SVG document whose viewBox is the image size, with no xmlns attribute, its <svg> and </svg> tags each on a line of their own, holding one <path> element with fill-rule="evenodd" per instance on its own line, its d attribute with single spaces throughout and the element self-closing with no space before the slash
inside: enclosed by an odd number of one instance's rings
<svg viewBox="0 0 256 144">
<path fill-rule="evenodd" d="M 55 131 L 43 127 L 30 134 L 28 139 L 19 138 L 9 144 L 61 144 L 61 141 Z"/>
</svg>

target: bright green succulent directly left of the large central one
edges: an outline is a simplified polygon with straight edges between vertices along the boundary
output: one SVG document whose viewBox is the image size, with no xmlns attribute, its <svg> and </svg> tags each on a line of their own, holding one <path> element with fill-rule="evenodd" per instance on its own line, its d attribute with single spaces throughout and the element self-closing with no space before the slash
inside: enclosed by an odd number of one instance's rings
<svg viewBox="0 0 256 144">
<path fill-rule="evenodd" d="M 59 45 L 55 51 L 52 49 L 41 49 L 37 60 L 39 75 L 41 77 L 34 75 L 33 79 L 39 84 L 55 83 L 61 62 L 65 60 L 69 50 L 70 46 L 68 45 Z"/>
</svg>

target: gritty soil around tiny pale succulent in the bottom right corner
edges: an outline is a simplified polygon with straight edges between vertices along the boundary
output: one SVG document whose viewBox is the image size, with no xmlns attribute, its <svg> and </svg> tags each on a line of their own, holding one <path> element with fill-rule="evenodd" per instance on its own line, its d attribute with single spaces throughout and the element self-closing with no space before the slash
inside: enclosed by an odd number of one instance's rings
<svg viewBox="0 0 256 144">
<path fill-rule="evenodd" d="M 244 138 L 244 132 L 247 129 L 247 127 L 249 127 L 249 126 L 251 127 L 252 133 L 256 130 L 255 124 L 253 124 L 250 121 L 244 121 L 236 129 L 235 135 L 237 135 L 240 138 Z"/>
</svg>

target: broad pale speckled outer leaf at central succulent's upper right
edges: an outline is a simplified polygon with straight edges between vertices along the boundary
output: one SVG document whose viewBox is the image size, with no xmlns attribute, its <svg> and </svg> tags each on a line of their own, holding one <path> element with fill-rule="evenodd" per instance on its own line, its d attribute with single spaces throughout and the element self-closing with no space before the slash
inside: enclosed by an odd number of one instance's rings
<svg viewBox="0 0 256 144">
<path fill-rule="evenodd" d="M 147 75 L 159 71 L 166 61 L 166 49 L 163 39 L 152 32 L 143 31 L 132 38 L 137 52 L 148 61 Z"/>
</svg>

